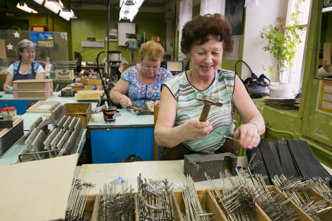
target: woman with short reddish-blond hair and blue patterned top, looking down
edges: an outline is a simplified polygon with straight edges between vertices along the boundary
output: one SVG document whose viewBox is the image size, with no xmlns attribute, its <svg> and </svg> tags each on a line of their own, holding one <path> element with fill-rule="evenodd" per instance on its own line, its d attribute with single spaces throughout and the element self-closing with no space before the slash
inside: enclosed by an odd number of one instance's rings
<svg viewBox="0 0 332 221">
<path fill-rule="evenodd" d="M 141 63 L 127 68 L 110 92 L 112 102 L 127 109 L 130 105 L 140 107 L 146 101 L 160 101 L 160 86 L 172 73 L 160 67 L 164 48 L 155 41 L 143 43 L 139 49 Z"/>
</svg>

